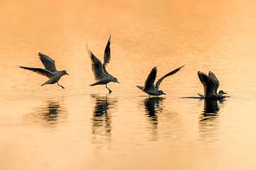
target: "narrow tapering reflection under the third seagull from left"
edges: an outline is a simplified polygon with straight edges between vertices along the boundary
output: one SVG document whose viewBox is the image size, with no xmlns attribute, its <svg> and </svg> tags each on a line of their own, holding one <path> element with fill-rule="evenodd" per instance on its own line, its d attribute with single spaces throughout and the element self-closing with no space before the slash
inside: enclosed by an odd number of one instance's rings
<svg viewBox="0 0 256 170">
<path fill-rule="evenodd" d="M 161 102 L 163 100 L 164 98 L 161 97 L 146 98 L 144 100 L 145 112 L 149 118 L 149 122 L 151 123 L 151 134 L 153 135 L 151 140 L 158 140 L 158 113 L 161 113 Z"/>
</svg>

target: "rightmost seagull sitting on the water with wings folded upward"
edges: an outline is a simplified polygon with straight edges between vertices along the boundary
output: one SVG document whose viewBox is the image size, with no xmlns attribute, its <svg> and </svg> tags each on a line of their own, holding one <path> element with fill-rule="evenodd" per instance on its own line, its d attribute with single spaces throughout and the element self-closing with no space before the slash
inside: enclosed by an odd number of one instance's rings
<svg viewBox="0 0 256 170">
<path fill-rule="evenodd" d="M 203 84 L 204 88 L 204 95 L 198 94 L 201 98 L 206 99 L 221 99 L 225 98 L 226 96 L 223 96 L 223 94 L 227 94 L 224 91 L 219 91 L 217 94 L 218 86 L 220 85 L 220 82 L 218 81 L 217 77 L 213 72 L 209 72 L 209 74 L 205 74 L 203 72 L 198 71 L 198 77 Z"/>
</svg>

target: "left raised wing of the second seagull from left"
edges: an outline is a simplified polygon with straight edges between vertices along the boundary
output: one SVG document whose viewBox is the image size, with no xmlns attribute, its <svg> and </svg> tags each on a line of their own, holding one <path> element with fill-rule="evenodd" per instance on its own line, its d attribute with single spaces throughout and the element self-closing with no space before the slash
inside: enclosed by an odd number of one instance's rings
<svg viewBox="0 0 256 170">
<path fill-rule="evenodd" d="M 103 77 L 106 77 L 107 74 L 104 72 L 102 62 L 100 62 L 100 60 L 97 57 L 95 57 L 95 55 L 92 54 L 88 46 L 86 47 L 90 55 L 90 59 L 92 61 L 92 72 L 95 76 L 95 80 L 99 80 L 99 79 L 102 79 Z"/>
</svg>

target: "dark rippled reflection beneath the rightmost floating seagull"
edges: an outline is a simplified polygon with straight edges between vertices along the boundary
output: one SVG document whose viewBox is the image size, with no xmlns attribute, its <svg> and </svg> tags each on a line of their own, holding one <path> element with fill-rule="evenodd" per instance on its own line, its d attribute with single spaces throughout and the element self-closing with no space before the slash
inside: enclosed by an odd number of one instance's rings
<svg viewBox="0 0 256 170">
<path fill-rule="evenodd" d="M 204 100 L 203 112 L 199 115 L 199 135 L 201 140 L 215 142 L 218 140 L 220 107 L 217 100 Z"/>
</svg>

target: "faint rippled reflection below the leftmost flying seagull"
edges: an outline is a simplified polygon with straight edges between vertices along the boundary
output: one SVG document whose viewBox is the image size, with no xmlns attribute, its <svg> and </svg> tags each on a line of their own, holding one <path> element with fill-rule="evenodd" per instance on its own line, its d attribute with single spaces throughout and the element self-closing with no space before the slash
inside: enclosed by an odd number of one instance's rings
<svg viewBox="0 0 256 170">
<path fill-rule="evenodd" d="M 45 101 L 43 106 L 36 108 L 33 113 L 28 113 L 26 118 L 44 127 L 54 128 L 68 117 L 68 113 L 63 105 L 63 99 L 50 99 Z"/>
</svg>

